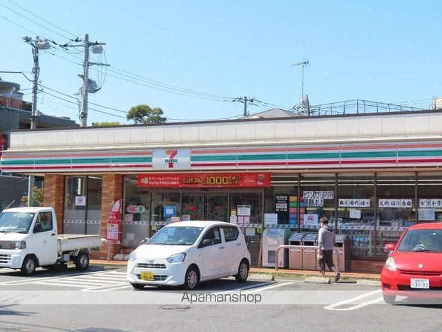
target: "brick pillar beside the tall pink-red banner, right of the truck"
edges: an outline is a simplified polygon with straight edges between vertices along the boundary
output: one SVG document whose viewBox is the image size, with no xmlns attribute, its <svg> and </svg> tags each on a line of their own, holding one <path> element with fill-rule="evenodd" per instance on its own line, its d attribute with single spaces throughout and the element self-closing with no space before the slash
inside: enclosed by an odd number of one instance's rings
<svg viewBox="0 0 442 332">
<path fill-rule="evenodd" d="M 101 223 L 101 237 L 106 239 L 107 221 L 112 210 L 113 204 L 117 199 L 123 198 L 123 176 L 122 174 L 103 174 L 102 182 L 102 223 Z M 102 244 L 102 248 L 98 253 L 94 253 L 94 258 L 106 259 L 107 246 Z M 119 254 L 121 245 L 111 244 L 111 259 L 116 254 Z M 97 257 L 99 255 L 99 257 Z"/>
</svg>

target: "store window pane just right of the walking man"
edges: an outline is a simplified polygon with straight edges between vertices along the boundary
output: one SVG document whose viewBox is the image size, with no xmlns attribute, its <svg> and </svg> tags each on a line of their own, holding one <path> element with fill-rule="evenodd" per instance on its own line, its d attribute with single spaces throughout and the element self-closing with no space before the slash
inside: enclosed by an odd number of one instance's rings
<svg viewBox="0 0 442 332">
<path fill-rule="evenodd" d="M 338 222 L 331 225 L 352 240 L 352 257 L 374 255 L 375 205 L 374 173 L 338 174 Z"/>
</svg>

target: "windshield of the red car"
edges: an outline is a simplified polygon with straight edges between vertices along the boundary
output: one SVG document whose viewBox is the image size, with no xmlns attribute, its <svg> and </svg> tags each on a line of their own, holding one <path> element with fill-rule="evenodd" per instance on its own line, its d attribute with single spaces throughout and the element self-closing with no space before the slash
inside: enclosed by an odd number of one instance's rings
<svg viewBox="0 0 442 332">
<path fill-rule="evenodd" d="M 442 252 L 442 230 L 408 230 L 397 251 Z"/>
</svg>

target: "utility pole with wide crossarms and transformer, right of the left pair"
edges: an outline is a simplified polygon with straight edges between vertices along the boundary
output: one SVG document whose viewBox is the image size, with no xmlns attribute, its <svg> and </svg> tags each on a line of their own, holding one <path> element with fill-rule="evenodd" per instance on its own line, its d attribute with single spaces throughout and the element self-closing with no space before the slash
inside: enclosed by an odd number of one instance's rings
<svg viewBox="0 0 442 332">
<path fill-rule="evenodd" d="M 76 40 L 77 42 L 77 40 Z M 81 87 L 81 112 L 79 114 L 80 118 L 80 127 L 87 127 L 88 125 L 88 93 L 95 93 L 99 89 L 97 85 L 92 80 L 89 80 L 89 66 L 96 64 L 98 66 L 109 66 L 108 64 L 101 64 L 97 62 L 89 61 L 89 48 L 93 46 L 92 53 L 102 53 L 103 48 L 102 45 L 106 45 L 106 43 L 99 42 L 89 42 L 89 34 L 86 33 L 84 35 L 83 44 L 77 45 L 66 45 L 66 47 L 83 47 L 84 48 L 84 59 L 83 59 L 83 74 L 79 75 L 83 79 L 83 86 Z"/>
</svg>

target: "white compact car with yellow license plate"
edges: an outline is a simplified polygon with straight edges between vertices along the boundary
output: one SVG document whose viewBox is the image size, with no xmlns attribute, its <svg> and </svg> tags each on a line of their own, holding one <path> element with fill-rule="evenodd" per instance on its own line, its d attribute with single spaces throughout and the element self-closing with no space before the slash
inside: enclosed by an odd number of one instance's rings
<svg viewBox="0 0 442 332">
<path fill-rule="evenodd" d="M 237 225 L 181 221 L 166 225 L 129 256 L 127 280 L 133 288 L 175 286 L 193 290 L 199 282 L 249 276 L 250 253 Z"/>
</svg>

